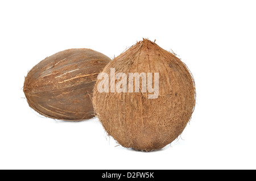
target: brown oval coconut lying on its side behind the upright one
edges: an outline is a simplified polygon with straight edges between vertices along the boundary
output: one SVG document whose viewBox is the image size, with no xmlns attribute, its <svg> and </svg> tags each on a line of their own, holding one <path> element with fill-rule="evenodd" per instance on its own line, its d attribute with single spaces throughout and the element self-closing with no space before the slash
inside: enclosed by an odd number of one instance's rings
<svg viewBox="0 0 256 181">
<path fill-rule="evenodd" d="M 31 108 L 53 119 L 94 117 L 93 87 L 110 58 L 92 49 L 68 49 L 47 57 L 25 78 L 23 91 Z"/>
</svg>

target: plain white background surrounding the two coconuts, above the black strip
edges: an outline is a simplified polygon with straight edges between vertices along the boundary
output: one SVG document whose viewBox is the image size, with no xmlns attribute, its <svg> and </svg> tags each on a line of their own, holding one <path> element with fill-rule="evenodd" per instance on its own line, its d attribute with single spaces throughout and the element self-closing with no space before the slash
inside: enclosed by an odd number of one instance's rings
<svg viewBox="0 0 256 181">
<path fill-rule="evenodd" d="M 1 1 L 0 169 L 256 169 L 255 1 Z M 43 118 L 24 76 L 60 50 L 110 58 L 146 37 L 192 71 L 197 104 L 179 140 L 142 153 L 98 119 Z"/>
</svg>

